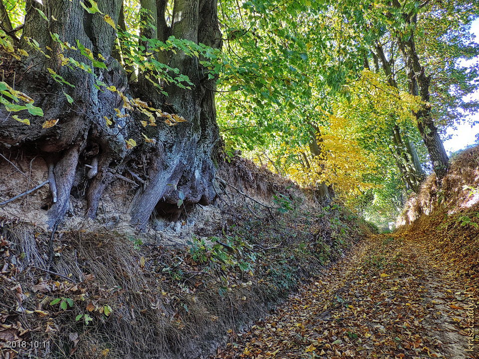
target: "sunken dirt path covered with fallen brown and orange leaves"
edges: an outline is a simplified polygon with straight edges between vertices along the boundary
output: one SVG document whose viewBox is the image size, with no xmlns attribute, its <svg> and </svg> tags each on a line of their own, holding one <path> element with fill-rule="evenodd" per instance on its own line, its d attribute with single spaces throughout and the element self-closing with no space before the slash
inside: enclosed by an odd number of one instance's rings
<svg viewBox="0 0 479 359">
<path fill-rule="evenodd" d="M 233 334 L 216 358 L 477 359 L 477 341 L 468 351 L 467 308 L 479 304 L 470 290 L 421 244 L 373 236 L 249 332 Z"/>
</svg>

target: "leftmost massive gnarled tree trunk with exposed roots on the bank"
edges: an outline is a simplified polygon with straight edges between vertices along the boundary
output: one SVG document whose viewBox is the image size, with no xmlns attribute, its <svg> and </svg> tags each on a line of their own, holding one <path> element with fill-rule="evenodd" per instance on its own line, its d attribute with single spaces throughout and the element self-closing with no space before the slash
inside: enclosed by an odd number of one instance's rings
<svg viewBox="0 0 479 359">
<path fill-rule="evenodd" d="M 114 21 L 118 19 L 120 6 L 120 0 L 104 0 L 99 3 L 100 10 Z M 47 16 L 48 21 L 36 8 Z M 32 97 L 42 108 L 44 116 L 40 118 L 20 113 L 22 118 L 30 117 L 31 125 L 25 126 L 12 120 L 7 114 L 0 113 L 0 117 L 7 119 L 0 124 L 0 143 L 10 144 L 9 150 L 37 148 L 38 154 L 51 165 L 53 171 L 50 172 L 52 180 L 49 185 L 52 197 L 56 197 L 56 200 L 52 198 L 48 224 L 53 226 L 69 209 L 70 192 L 78 169 L 92 160 L 85 156 L 85 149 L 100 147 L 95 156 L 109 156 L 111 148 L 124 147 L 124 139 L 117 130 L 108 129 L 103 118 L 109 116 L 113 108 L 118 107 L 118 96 L 96 88 L 95 76 L 92 74 L 62 66 L 58 57 L 62 51 L 61 45 L 53 40 L 50 33 L 58 34 L 62 42 L 66 41 L 75 46 L 78 40 L 91 49 L 95 58 L 105 58 L 107 69 L 93 69 L 96 76 L 108 85 L 124 90 L 126 78 L 118 62 L 111 56 L 116 38 L 115 30 L 101 16 L 86 12 L 78 0 L 46 0 L 43 4 L 34 0 L 26 1 L 20 47 L 30 56 L 18 64 L 20 75 L 7 81 L 20 91 L 35 94 Z M 32 39 L 50 58 L 31 48 L 29 42 Z M 47 47 L 51 50 L 47 50 Z M 69 51 L 68 55 L 92 66 L 92 62 L 77 50 Z M 64 81 L 72 86 L 60 86 L 51 77 L 45 76 L 49 71 L 62 76 Z M 68 103 L 64 93 L 73 98 L 72 105 Z M 45 120 L 58 122 L 56 126 L 43 128 L 42 123 Z M 108 141 L 102 141 L 105 138 L 108 138 Z M 108 145 L 101 147 L 102 143 Z M 53 196 L 53 193 L 56 193 L 56 196 Z"/>
</svg>

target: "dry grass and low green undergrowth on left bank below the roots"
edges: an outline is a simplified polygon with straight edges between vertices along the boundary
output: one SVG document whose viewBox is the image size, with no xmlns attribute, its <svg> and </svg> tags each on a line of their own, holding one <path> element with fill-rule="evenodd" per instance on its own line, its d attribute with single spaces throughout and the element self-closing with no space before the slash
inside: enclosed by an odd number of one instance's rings
<svg viewBox="0 0 479 359">
<path fill-rule="evenodd" d="M 45 343 L 27 352 L 47 358 L 211 351 L 370 231 L 339 205 L 287 206 L 272 216 L 237 208 L 214 235 L 191 234 L 186 246 L 60 231 L 51 266 L 47 233 L 4 220 L 0 318 L 9 325 L 0 331 Z"/>
</svg>

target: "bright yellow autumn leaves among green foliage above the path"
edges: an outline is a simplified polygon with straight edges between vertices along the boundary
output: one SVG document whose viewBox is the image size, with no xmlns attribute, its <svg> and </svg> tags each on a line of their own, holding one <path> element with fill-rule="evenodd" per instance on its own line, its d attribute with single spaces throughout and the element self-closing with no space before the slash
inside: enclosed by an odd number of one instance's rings
<svg viewBox="0 0 479 359">
<path fill-rule="evenodd" d="M 316 108 L 316 122 L 323 124 L 316 139 L 320 155 L 312 156 L 308 145 L 290 147 L 290 142 L 284 142 L 281 147 L 286 155 L 280 167 L 301 186 L 332 185 L 336 195 L 348 202 L 378 186 L 380 160 L 389 154 L 378 139 L 388 138 L 392 126 L 414 125 L 414 112 L 426 104 L 369 70 L 348 83 L 343 95 L 334 99 L 329 112 Z M 267 166 L 277 172 L 271 164 Z"/>
</svg>

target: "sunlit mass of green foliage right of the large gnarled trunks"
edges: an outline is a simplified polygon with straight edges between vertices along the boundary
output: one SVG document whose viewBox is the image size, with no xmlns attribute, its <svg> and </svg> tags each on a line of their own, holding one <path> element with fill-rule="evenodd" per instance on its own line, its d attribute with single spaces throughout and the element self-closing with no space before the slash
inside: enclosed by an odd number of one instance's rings
<svg viewBox="0 0 479 359">
<path fill-rule="evenodd" d="M 358 204 L 359 212 L 381 225 L 394 220 L 408 192 L 391 153 L 392 126 L 398 125 L 416 145 L 426 169 L 428 159 L 411 116 L 411 110 L 424 104 L 405 96 L 407 74 L 402 55 L 392 42 L 398 36 L 416 36 L 419 57 L 434 79 L 433 115 L 444 131 L 453 120 L 477 108 L 464 97 L 477 88 L 477 65 L 456 65 L 458 59 L 478 54 L 478 44 L 469 33 L 478 14 L 477 4 L 412 1 L 404 2 L 401 11 L 386 1 L 343 1 L 338 7 L 328 7 L 322 1 L 313 1 L 312 6 L 284 1 L 277 11 L 264 11 L 270 3 L 261 0 L 248 1 L 241 9 L 234 1 L 229 5 L 221 13 L 227 34 L 225 52 L 240 71 L 220 78 L 221 89 L 228 91 L 218 99 L 227 150 L 240 149 L 259 165 L 294 180 L 303 179 L 307 184 L 302 185 L 315 185 L 318 172 L 325 172 L 326 179 L 338 179 L 338 165 L 344 166 L 344 182 L 357 173 L 358 183 L 369 183 L 369 188 L 360 188 L 360 196 L 374 197 L 366 205 L 356 201 L 358 193 L 354 193 L 348 198 L 351 206 Z M 417 24 L 406 24 L 403 13 L 417 14 Z M 387 84 L 377 57 L 379 67 L 374 65 L 377 55 L 373 56 L 372 50 L 378 43 L 384 44 L 398 89 Z M 367 79 L 362 75 L 366 60 Z M 331 127 L 331 114 L 339 117 L 341 127 Z M 316 140 L 311 138 L 316 127 L 321 127 L 323 147 L 327 136 L 336 136 L 334 146 L 323 148 L 323 157 L 343 156 L 343 161 L 335 160 L 326 169 L 324 159 L 319 166 L 312 161 L 308 146 Z M 337 146 L 346 141 L 350 142 Z M 381 170 L 375 173 L 357 164 L 346 167 L 352 162 L 351 155 L 344 156 L 350 148 L 365 151 L 365 157 L 374 158 Z M 308 156 L 309 164 L 304 162 Z M 339 194 L 348 186 L 357 187 L 356 182 L 332 184 Z"/>
</svg>

